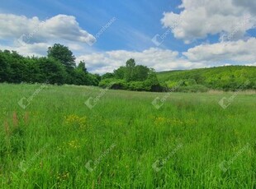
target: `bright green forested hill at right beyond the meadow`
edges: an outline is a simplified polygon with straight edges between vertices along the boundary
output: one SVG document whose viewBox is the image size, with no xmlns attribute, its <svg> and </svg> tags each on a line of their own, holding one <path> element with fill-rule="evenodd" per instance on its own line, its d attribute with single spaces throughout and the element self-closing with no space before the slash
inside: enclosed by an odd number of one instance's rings
<svg viewBox="0 0 256 189">
<path fill-rule="evenodd" d="M 162 71 L 159 81 L 176 90 L 248 90 L 256 89 L 256 67 L 227 66 L 187 71 Z"/>
</svg>

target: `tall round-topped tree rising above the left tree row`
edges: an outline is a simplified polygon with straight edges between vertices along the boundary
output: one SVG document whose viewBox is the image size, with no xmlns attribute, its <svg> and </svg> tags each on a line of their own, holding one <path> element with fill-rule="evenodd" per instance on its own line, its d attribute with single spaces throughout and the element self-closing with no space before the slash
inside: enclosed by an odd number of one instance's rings
<svg viewBox="0 0 256 189">
<path fill-rule="evenodd" d="M 53 47 L 48 48 L 48 58 L 54 58 L 62 63 L 67 71 L 75 67 L 75 57 L 68 47 L 62 44 L 54 44 Z"/>
</svg>

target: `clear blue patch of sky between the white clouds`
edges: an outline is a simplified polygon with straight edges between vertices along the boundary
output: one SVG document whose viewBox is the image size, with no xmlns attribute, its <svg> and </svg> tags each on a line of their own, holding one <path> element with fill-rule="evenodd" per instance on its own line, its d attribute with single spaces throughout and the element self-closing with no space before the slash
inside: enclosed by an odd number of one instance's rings
<svg viewBox="0 0 256 189">
<path fill-rule="evenodd" d="M 112 17 L 116 23 L 102 35 L 95 48 L 99 50 L 143 50 L 154 46 L 152 38 L 155 34 L 164 33 L 161 25 L 163 12 L 178 12 L 180 1 L 18 1 L 11 0 L 2 4 L 6 13 L 38 16 L 40 20 L 59 14 L 75 16 L 79 25 L 91 34 L 97 34 L 103 25 Z M 13 6 L 15 5 L 15 6 Z M 128 36 L 127 36 L 128 35 Z M 143 36 L 143 37 L 142 37 Z M 173 43 L 174 42 L 174 43 Z M 175 40 L 172 36 L 165 44 L 184 50 L 187 47 L 183 41 Z"/>
</svg>

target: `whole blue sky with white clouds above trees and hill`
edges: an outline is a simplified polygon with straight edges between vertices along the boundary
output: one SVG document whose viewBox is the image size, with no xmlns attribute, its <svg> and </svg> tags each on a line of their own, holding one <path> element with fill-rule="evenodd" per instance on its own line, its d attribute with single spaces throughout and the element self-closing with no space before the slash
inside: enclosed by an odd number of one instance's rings
<svg viewBox="0 0 256 189">
<path fill-rule="evenodd" d="M 69 47 L 104 74 L 129 58 L 156 71 L 256 66 L 256 1 L 0 0 L 0 49 Z"/>
</svg>

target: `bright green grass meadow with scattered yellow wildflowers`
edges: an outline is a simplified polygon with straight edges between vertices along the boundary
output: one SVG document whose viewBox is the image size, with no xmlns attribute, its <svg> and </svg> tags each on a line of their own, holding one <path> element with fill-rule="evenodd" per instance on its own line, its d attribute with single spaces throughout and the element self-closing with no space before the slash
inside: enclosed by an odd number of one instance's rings
<svg viewBox="0 0 256 189">
<path fill-rule="evenodd" d="M 256 188 L 254 93 L 1 84 L 0 97 L 1 188 Z"/>
</svg>

